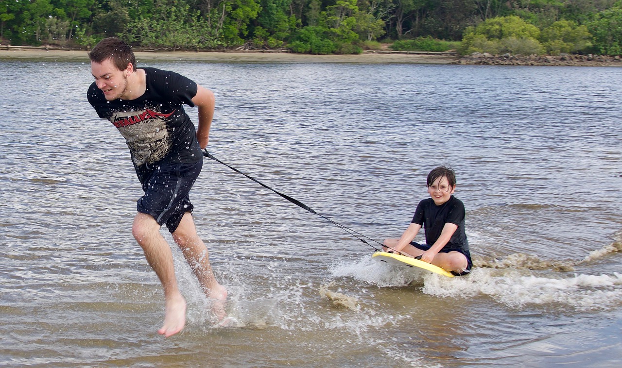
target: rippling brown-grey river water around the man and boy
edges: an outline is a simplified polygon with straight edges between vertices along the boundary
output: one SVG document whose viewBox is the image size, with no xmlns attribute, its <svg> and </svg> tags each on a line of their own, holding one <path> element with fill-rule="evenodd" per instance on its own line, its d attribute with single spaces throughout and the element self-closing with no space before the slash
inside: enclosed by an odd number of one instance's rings
<svg viewBox="0 0 622 368">
<path fill-rule="evenodd" d="M 622 364 L 621 68 L 140 66 L 214 91 L 215 157 L 374 241 L 452 166 L 476 267 L 381 264 L 378 243 L 206 159 L 195 222 L 235 321 L 212 326 L 174 249 L 188 322 L 165 339 L 131 235 L 141 188 L 86 101 L 88 62 L 0 60 L 0 366 Z"/>
</svg>

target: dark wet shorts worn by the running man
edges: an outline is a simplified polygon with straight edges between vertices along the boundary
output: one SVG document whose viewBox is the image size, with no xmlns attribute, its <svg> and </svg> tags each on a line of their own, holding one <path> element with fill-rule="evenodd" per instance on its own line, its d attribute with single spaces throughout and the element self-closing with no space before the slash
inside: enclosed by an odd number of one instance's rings
<svg viewBox="0 0 622 368">
<path fill-rule="evenodd" d="M 145 195 L 136 203 L 140 213 L 153 216 L 175 232 L 185 213 L 192 213 L 188 193 L 203 167 L 203 157 L 196 163 L 144 164 L 136 168 Z"/>
</svg>

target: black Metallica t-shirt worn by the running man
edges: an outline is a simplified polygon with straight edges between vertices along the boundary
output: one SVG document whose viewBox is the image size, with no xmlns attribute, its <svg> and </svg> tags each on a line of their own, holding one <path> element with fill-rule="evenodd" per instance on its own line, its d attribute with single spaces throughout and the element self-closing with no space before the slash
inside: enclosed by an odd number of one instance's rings
<svg viewBox="0 0 622 368">
<path fill-rule="evenodd" d="M 93 83 L 86 94 L 98 116 L 119 129 L 136 167 L 152 163 L 193 163 L 203 156 L 195 126 L 183 109 L 194 107 L 197 83 L 173 71 L 142 68 L 147 89 L 137 99 L 106 101 Z"/>
</svg>

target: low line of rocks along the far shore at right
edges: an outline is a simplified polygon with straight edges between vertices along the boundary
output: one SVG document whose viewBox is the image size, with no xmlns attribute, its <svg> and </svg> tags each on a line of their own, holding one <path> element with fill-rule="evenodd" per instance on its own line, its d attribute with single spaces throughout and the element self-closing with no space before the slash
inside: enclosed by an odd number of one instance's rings
<svg viewBox="0 0 622 368">
<path fill-rule="evenodd" d="M 460 58 L 454 64 L 478 65 L 570 65 L 575 67 L 622 67 L 620 56 L 605 55 L 571 55 L 562 53 L 559 56 L 550 55 L 491 55 L 490 53 L 474 52 Z"/>
</svg>

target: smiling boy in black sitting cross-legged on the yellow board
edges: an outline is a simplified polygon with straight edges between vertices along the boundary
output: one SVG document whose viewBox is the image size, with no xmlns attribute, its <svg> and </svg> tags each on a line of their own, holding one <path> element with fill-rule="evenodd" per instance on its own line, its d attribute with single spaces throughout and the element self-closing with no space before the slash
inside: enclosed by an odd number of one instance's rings
<svg viewBox="0 0 622 368">
<path fill-rule="evenodd" d="M 426 186 L 431 198 L 419 202 L 402 237 L 384 240 L 384 251 L 420 257 L 455 275 L 468 274 L 473 262 L 466 241 L 465 206 L 452 196 L 455 172 L 450 167 L 437 167 L 428 174 Z M 426 244 L 417 244 L 412 239 L 424 225 Z"/>
</svg>

